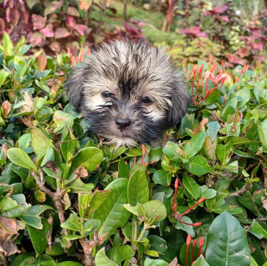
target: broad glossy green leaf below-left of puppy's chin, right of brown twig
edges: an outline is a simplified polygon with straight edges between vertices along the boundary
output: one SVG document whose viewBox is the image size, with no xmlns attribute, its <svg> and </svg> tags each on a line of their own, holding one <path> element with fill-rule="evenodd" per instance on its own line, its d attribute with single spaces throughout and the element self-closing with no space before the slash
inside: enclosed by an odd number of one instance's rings
<svg viewBox="0 0 267 266">
<path fill-rule="evenodd" d="M 103 160 L 103 152 L 96 147 L 88 147 L 81 149 L 78 154 L 73 157 L 71 167 L 73 170 L 79 166 L 85 167 L 89 172 L 94 171 L 98 164 Z"/>
</svg>

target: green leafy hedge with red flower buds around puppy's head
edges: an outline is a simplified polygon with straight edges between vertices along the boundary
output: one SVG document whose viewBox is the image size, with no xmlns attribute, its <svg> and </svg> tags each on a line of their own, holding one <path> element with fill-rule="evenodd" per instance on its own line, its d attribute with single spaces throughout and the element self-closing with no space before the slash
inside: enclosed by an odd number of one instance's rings
<svg viewBox="0 0 267 266">
<path fill-rule="evenodd" d="M 29 48 L 7 34 L 0 46 L 4 263 L 266 263 L 260 68 L 226 70 L 212 56 L 187 65 L 192 106 L 163 137 L 175 142 L 125 149 L 88 134 L 73 112 L 63 88 L 69 55 L 26 56 Z"/>
</svg>

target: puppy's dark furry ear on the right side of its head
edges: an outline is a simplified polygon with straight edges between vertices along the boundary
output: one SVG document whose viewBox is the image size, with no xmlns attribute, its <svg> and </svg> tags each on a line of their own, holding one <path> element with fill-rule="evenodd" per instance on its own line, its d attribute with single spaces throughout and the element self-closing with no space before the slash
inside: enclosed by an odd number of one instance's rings
<svg viewBox="0 0 267 266">
<path fill-rule="evenodd" d="M 172 106 L 168 110 L 169 126 L 174 127 L 187 113 L 187 107 L 191 103 L 191 97 L 187 91 L 187 83 L 180 81 L 173 90 Z"/>
</svg>

